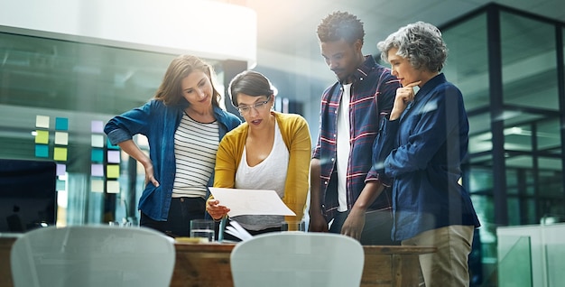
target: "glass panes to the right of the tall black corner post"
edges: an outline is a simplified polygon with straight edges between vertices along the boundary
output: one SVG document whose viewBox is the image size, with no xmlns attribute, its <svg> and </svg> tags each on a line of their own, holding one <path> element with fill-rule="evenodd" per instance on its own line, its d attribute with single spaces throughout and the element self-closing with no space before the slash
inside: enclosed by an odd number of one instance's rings
<svg viewBox="0 0 565 287">
<path fill-rule="evenodd" d="M 523 183 L 532 189 L 531 194 L 522 192 L 513 199 L 517 209 L 508 208 L 508 217 L 513 218 L 510 225 L 539 223 L 543 216 L 562 212 L 555 31 L 554 23 L 500 12 L 503 98 L 505 110 L 514 111 L 505 118 L 505 165 L 508 170 L 529 171 L 530 182 Z M 527 204 L 532 199 L 540 204 Z M 537 210 L 526 210 L 527 206 Z"/>
</svg>

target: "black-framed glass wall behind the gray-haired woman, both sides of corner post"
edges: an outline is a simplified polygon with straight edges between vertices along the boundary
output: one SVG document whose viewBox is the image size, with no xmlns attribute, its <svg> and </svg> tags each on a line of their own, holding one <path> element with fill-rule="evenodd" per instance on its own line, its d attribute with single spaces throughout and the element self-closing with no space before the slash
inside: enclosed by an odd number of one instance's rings
<svg viewBox="0 0 565 287">
<path fill-rule="evenodd" d="M 476 240 L 484 282 L 496 281 L 496 227 L 565 219 L 564 79 L 556 37 L 564 25 L 486 5 L 440 27 L 449 49 L 443 72 L 461 89 L 468 111 L 463 182 L 482 224 Z"/>
</svg>

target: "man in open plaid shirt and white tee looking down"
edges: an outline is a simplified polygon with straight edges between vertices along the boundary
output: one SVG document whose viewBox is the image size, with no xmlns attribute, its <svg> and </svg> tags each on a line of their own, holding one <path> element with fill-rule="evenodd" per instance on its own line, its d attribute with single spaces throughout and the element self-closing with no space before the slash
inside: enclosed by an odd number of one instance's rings
<svg viewBox="0 0 565 287">
<path fill-rule="evenodd" d="M 363 23 L 345 12 L 329 14 L 318 26 L 321 54 L 338 81 L 321 99 L 310 163 L 309 228 L 351 236 L 363 245 L 393 245 L 390 190 L 368 173 L 381 118 L 400 84 L 373 56 L 363 55 L 364 36 Z"/>
</svg>

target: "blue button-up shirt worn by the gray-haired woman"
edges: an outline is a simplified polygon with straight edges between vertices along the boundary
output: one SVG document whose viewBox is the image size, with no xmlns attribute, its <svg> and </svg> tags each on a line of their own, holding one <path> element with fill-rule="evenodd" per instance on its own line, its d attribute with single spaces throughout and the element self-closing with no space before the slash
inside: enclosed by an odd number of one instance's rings
<svg viewBox="0 0 565 287">
<path fill-rule="evenodd" d="M 381 181 L 393 184 L 394 240 L 450 225 L 479 226 L 458 183 L 467 153 L 463 97 L 443 74 L 421 87 L 399 119 L 384 119 L 374 161 Z"/>
</svg>

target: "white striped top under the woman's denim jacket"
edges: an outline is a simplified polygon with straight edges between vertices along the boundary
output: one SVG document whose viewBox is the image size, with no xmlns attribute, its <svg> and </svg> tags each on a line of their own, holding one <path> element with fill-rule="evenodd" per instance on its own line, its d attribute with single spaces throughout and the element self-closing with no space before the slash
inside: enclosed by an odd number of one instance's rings
<svg viewBox="0 0 565 287">
<path fill-rule="evenodd" d="M 199 123 L 184 114 L 174 134 L 176 173 L 172 197 L 206 197 L 218 152 L 218 122 Z"/>
</svg>

